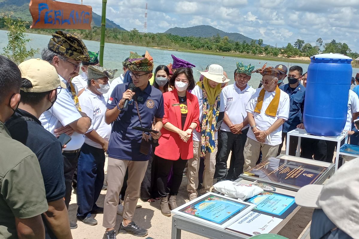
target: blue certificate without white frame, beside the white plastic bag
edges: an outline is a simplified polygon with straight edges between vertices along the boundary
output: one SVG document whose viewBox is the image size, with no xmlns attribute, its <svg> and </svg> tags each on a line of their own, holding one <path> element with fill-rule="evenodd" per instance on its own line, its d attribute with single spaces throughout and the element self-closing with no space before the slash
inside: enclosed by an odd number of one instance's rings
<svg viewBox="0 0 359 239">
<path fill-rule="evenodd" d="M 278 192 L 264 191 L 246 202 L 256 205 L 252 211 L 280 219 L 285 219 L 297 207 L 294 197 Z"/>
</svg>

